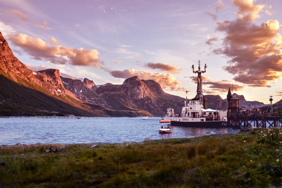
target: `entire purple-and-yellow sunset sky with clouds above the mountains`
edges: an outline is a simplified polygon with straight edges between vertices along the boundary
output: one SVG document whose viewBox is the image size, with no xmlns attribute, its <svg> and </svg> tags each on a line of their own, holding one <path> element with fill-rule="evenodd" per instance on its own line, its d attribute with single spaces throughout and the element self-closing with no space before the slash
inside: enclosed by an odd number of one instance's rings
<svg viewBox="0 0 282 188">
<path fill-rule="evenodd" d="M 122 84 L 138 76 L 167 93 L 282 99 L 282 1 L 0 0 L 0 31 L 32 70 Z"/>
</svg>

